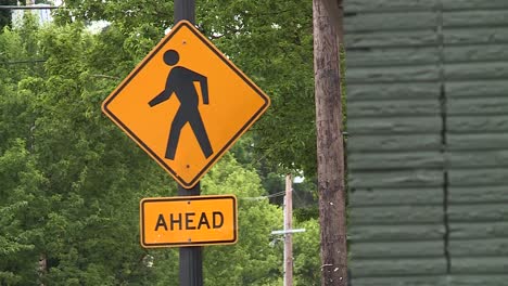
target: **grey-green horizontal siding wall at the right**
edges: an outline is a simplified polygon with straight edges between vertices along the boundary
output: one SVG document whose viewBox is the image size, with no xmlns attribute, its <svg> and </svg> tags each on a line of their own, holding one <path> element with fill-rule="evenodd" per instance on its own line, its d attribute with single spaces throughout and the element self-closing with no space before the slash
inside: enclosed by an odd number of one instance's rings
<svg viewBox="0 0 508 286">
<path fill-rule="evenodd" d="M 508 285 L 508 1 L 344 4 L 352 285 Z"/>
</svg>

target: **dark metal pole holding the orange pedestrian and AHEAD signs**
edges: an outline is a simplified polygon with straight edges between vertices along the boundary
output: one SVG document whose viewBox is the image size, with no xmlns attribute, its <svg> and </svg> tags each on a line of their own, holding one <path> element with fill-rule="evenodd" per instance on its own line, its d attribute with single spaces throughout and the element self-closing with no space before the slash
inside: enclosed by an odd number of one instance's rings
<svg viewBox="0 0 508 286">
<path fill-rule="evenodd" d="M 175 24 L 181 20 L 195 22 L 194 0 L 175 0 Z M 178 185 L 179 196 L 199 196 L 201 193 L 200 183 L 192 188 L 185 188 Z M 202 286 L 203 285 L 203 247 L 180 247 L 180 286 Z"/>
</svg>

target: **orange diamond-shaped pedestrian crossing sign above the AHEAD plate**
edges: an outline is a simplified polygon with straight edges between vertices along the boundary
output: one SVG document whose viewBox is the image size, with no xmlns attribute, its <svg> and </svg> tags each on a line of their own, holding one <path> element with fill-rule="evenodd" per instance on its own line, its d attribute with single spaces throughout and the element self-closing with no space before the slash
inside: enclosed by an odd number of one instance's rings
<svg viewBox="0 0 508 286">
<path fill-rule="evenodd" d="M 189 22 L 179 22 L 102 110 L 190 188 L 268 108 L 269 98 Z"/>
</svg>

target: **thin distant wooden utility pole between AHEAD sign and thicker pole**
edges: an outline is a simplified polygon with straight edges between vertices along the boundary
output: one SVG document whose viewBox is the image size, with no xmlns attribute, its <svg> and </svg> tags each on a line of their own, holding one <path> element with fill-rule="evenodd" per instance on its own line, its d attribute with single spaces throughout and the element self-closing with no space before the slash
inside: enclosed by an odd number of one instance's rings
<svg viewBox="0 0 508 286">
<path fill-rule="evenodd" d="M 293 286 L 293 180 L 291 174 L 285 176 L 284 196 L 284 286 Z"/>
</svg>

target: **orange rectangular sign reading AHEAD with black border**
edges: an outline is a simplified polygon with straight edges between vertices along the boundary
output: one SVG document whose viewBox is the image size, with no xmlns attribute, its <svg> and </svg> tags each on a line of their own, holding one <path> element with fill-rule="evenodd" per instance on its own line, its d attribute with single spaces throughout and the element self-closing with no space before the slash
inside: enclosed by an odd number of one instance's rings
<svg viewBox="0 0 508 286">
<path fill-rule="evenodd" d="M 144 248 L 234 244 L 238 239 L 237 197 L 143 198 L 140 233 Z"/>
</svg>

